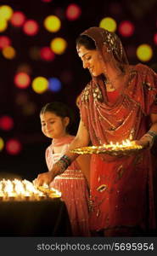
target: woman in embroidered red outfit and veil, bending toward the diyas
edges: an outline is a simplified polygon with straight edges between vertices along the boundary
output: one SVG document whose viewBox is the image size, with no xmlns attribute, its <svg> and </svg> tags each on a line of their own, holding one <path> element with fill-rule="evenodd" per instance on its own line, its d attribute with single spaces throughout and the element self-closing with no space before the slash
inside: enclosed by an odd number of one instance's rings
<svg viewBox="0 0 157 256">
<path fill-rule="evenodd" d="M 129 65 L 121 40 L 100 27 L 83 32 L 76 48 L 92 80 L 81 92 L 81 122 L 70 150 L 126 139 L 145 148 L 131 156 L 93 154 L 91 230 L 104 236 L 142 236 L 155 228 L 150 148 L 157 136 L 157 74 L 142 64 Z M 76 159 L 70 150 L 51 172 L 37 177 L 37 185 L 64 172 Z"/>
</svg>

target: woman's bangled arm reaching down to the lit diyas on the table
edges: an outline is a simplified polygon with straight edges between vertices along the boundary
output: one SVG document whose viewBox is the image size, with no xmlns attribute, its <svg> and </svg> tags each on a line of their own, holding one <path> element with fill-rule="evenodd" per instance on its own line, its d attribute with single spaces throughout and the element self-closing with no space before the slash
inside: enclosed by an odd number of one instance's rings
<svg viewBox="0 0 157 256">
<path fill-rule="evenodd" d="M 76 160 L 76 158 L 79 156 L 78 154 L 71 153 L 70 150 L 85 147 L 88 145 L 89 142 L 90 137 L 87 128 L 83 124 L 83 122 L 80 121 L 76 137 L 72 141 L 72 143 L 70 143 L 70 148 L 65 152 L 64 156 L 61 157 L 60 160 L 53 165 L 52 170 L 50 170 L 49 172 L 44 172 L 37 176 L 35 180 L 35 185 L 41 186 L 43 183 L 51 183 L 54 177 L 63 173 L 70 165 L 70 163 Z"/>
</svg>

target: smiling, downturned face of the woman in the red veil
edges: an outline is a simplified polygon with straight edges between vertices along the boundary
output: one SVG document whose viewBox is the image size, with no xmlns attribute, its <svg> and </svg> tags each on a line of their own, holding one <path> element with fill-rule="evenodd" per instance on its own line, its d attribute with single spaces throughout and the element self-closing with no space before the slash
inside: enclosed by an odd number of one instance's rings
<svg viewBox="0 0 157 256">
<path fill-rule="evenodd" d="M 84 68 L 88 68 L 94 77 L 104 73 L 104 61 L 97 49 L 86 49 L 83 45 L 77 47 L 77 52 Z"/>
</svg>

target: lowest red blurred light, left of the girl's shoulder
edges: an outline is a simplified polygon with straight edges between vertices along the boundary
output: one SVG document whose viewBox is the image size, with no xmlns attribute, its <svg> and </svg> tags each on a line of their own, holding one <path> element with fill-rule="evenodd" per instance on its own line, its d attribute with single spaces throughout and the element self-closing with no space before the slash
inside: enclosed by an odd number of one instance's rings
<svg viewBox="0 0 157 256">
<path fill-rule="evenodd" d="M 6 143 L 6 150 L 8 154 L 19 154 L 21 149 L 21 143 L 17 139 L 10 139 Z"/>
</svg>

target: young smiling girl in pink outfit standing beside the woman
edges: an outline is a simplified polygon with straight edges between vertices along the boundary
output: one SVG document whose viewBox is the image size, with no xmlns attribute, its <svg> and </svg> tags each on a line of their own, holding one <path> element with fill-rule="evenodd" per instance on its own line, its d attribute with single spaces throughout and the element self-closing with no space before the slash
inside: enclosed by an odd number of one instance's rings
<svg viewBox="0 0 157 256">
<path fill-rule="evenodd" d="M 71 110 L 62 102 L 51 102 L 42 108 L 40 118 L 43 134 L 53 139 L 46 149 L 46 162 L 50 171 L 74 139 L 70 135 Z M 50 183 L 50 187 L 59 189 L 62 193 L 62 199 L 69 212 L 73 236 L 90 236 L 87 188 L 89 164 L 89 156 L 80 156 L 63 174 L 55 177 Z"/>
</svg>

